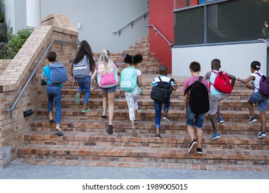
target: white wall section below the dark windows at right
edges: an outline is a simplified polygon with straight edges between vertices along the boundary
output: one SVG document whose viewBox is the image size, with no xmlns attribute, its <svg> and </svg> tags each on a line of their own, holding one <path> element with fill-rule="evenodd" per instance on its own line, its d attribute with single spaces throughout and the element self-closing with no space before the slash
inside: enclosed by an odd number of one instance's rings
<svg viewBox="0 0 269 193">
<path fill-rule="evenodd" d="M 211 70 L 212 59 L 219 59 L 221 70 L 245 79 L 251 73 L 252 61 L 259 61 L 261 72 L 266 74 L 266 57 L 266 43 L 172 48 L 172 75 L 190 77 L 189 65 L 192 61 L 198 61 L 201 64 L 201 76 L 204 76 Z"/>
</svg>

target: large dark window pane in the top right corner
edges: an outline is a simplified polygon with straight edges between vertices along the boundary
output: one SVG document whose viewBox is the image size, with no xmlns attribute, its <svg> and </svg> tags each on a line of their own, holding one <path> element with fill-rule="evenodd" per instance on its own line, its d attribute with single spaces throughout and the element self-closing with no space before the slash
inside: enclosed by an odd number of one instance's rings
<svg viewBox="0 0 269 193">
<path fill-rule="evenodd" d="M 208 43 L 265 38 L 269 34 L 268 10 L 268 0 L 225 1 L 208 6 Z"/>
</svg>

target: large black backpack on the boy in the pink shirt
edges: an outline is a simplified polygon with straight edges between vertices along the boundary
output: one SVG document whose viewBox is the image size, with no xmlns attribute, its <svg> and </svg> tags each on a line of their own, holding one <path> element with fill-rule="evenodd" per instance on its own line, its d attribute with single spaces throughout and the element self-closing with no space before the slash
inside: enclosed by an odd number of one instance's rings
<svg viewBox="0 0 269 193">
<path fill-rule="evenodd" d="M 206 85 L 201 83 L 203 77 L 199 77 L 198 81 L 189 85 L 185 90 L 184 95 L 190 91 L 189 96 L 189 105 L 190 110 L 193 113 L 202 114 L 209 111 L 209 97 L 208 97 L 208 89 Z"/>
</svg>

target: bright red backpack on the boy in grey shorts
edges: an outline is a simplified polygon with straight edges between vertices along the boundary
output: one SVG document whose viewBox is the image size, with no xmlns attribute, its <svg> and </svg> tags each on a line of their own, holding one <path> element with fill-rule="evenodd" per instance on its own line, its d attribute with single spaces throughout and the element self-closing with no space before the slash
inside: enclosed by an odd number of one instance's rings
<svg viewBox="0 0 269 193">
<path fill-rule="evenodd" d="M 226 94 L 231 94 L 232 93 L 232 83 L 230 83 L 230 78 L 226 74 L 226 72 L 215 72 L 211 71 L 215 74 L 217 74 L 217 77 L 215 79 L 214 84 L 212 84 L 216 90 L 219 90 L 219 92 L 223 92 Z"/>
</svg>

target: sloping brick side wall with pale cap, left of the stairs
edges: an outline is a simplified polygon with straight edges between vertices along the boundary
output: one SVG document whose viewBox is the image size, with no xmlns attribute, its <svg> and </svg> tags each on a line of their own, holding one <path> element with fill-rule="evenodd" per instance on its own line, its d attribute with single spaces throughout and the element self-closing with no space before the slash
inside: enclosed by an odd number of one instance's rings
<svg viewBox="0 0 269 193">
<path fill-rule="evenodd" d="M 70 41 L 77 43 L 78 32 L 65 15 L 52 14 L 43 19 L 42 25 L 32 32 L 18 54 L 10 61 L 6 70 L 0 74 L 0 167 L 16 159 L 17 148 L 23 145 L 23 135 L 30 130 L 30 122 L 37 116 L 41 101 L 46 98 L 46 87 L 40 85 L 43 67 L 47 65 L 46 58 L 41 61 L 52 40 Z M 68 28 L 66 26 L 69 26 Z M 64 28 L 63 28 L 64 27 Z M 50 51 L 57 52 L 57 59 L 70 72 L 70 59 L 74 57 L 77 45 L 54 41 Z M 31 76 L 34 68 L 41 61 L 37 73 L 26 87 L 12 112 L 8 110 L 14 104 L 24 85 Z M 23 111 L 33 110 L 34 114 L 23 118 Z"/>
</svg>

